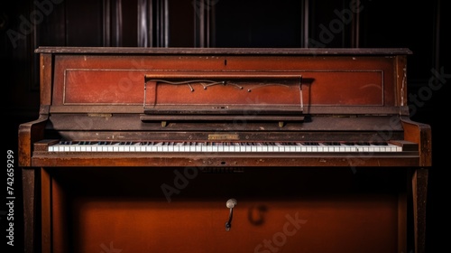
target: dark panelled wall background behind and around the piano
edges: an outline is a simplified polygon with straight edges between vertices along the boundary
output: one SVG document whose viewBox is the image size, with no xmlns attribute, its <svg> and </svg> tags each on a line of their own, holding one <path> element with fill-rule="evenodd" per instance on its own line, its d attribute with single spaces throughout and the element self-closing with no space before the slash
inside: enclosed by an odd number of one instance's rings
<svg viewBox="0 0 451 253">
<path fill-rule="evenodd" d="M 3 145 L 17 160 L 18 125 L 39 113 L 39 46 L 409 48 L 411 118 L 432 127 L 427 252 L 446 237 L 446 124 L 451 77 L 446 1 L 18 0 L 0 4 Z M 139 21 L 139 22 L 138 22 Z M 437 78 L 437 73 L 441 77 Z M 413 96 L 413 97 L 412 97 Z M 22 252 L 21 171 L 14 170 L 14 247 Z M 2 173 L 4 178 L 5 173 Z M 6 180 L 0 196 L 6 194 Z M 5 197 L 1 198 L 2 202 Z M 0 206 L 2 247 L 5 204 Z M 447 224 L 447 223 L 446 223 Z M 446 248 L 446 247 L 444 247 Z"/>
</svg>

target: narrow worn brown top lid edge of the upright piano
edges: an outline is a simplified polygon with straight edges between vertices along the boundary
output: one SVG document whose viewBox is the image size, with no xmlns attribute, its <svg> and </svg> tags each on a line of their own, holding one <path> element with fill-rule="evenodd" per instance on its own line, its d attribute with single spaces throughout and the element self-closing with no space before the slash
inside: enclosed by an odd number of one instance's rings
<svg viewBox="0 0 451 253">
<path fill-rule="evenodd" d="M 35 53 L 70 54 L 225 54 L 225 55 L 407 55 L 408 48 L 145 48 L 40 46 Z"/>
</svg>

